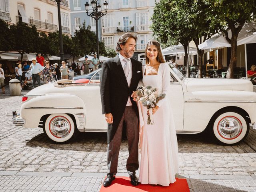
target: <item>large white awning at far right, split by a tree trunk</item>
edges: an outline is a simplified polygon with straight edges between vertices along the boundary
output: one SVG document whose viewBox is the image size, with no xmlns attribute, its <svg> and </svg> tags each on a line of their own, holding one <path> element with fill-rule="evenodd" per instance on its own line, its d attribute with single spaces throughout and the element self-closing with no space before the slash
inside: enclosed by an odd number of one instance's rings
<svg viewBox="0 0 256 192">
<path fill-rule="evenodd" d="M 231 30 L 228 30 L 228 37 L 231 39 Z M 256 22 L 245 23 L 241 31 L 238 34 L 237 45 L 256 43 Z M 214 50 L 223 47 L 231 47 L 231 44 L 227 42 L 224 34 L 216 34 L 216 36 L 206 40 L 198 46 L 204 50 Z"/>
</svg>

